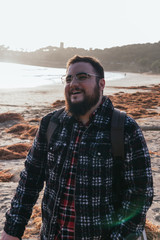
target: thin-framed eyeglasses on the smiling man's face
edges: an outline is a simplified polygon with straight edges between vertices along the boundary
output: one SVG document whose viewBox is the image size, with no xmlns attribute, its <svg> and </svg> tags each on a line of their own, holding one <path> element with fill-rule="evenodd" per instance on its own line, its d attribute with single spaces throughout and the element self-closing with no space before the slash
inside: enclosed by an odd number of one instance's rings
<svg viewBox="0 0 160 240">
<path fill-rule="evenodd" d="M 88 79 L 90 79 L 91 76 L 99 77 L 96 74 L 80 72 L 80 73 L 75 74 L 74 76 L 73 75 L 68 75 L 68 76 L 63 75 L 61 77 L 61 80 L 62 80 L 62 83 L 69 84 L 73 81 L 74 77 L 78 82 L 84 82 L 84 81 L 87 81 Z"/>
</svg>

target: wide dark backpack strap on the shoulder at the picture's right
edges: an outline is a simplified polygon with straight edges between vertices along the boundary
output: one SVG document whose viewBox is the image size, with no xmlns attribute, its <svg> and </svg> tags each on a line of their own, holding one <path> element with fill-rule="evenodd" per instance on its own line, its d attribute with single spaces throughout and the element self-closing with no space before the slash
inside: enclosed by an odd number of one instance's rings
<svg viewBox="0 0 160 240">
<path fill-rule="evenodd" d="M 111 120 L 111 143 L 114 158 L 124 159 L 124 121 L 126 113 L 116 108 L 113 110 Z"/>
</svg>

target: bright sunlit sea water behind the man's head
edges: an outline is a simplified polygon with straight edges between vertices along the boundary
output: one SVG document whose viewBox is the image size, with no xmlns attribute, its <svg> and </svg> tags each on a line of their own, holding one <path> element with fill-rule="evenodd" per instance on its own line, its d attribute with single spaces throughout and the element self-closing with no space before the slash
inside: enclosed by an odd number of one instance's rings
<svg viewBox="0 0 160 240">
<path fill-rule="evenodd" d="M 34 88 L 43 85 L 58 85 L 65 68 L 48 68 L 16 63 L 0 62 L 0 89 Z M 105 72 L 105 79 L 123 79 L 124 73 Z"/>
</svg>

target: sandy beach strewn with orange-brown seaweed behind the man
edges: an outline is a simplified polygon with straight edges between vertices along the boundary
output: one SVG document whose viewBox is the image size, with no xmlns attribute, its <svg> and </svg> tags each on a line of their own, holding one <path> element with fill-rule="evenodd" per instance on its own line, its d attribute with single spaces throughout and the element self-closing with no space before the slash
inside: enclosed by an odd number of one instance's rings
<svg viewBox="0 0 160 240">
<path fill-rule="evenodd" d="M 154 180 L 154 201 L 147 221 L 160 231 L 160 76 L 126 73 L 121 80 L 106 79 L 104 95 L 135 118 L 142 128 L 147 126 L 143 133 L 151 155 Z M 63 85 L 0 90 L 0 232 L 39 121 L 63 105 Z M 38 239 L 39 206 L 40 199 L 23 239 Z"/>
</svg>

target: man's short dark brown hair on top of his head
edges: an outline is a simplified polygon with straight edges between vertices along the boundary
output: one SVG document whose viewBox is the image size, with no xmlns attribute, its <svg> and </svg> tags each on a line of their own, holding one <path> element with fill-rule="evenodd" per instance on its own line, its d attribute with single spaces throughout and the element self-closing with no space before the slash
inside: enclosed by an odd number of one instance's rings
<svg viewBox="0 0 160 240">
<path fill-rule="evenodd" d="M 74 64 L 74 63 L 77 63 L 77 62 L 90 63 L 92 65 L 92 67 L 95 69 L 99 78 L 100 79 L 104 78 L 104 69 L 103 69 L 101 63 L 99 62 L 99 60 L 96 59 L 95 57 L 75 55 L 68 60 L 67 65 L 66 65 L 67 70 L 68 70 L 68 68 L 71 64 Z"/>
</svg>

